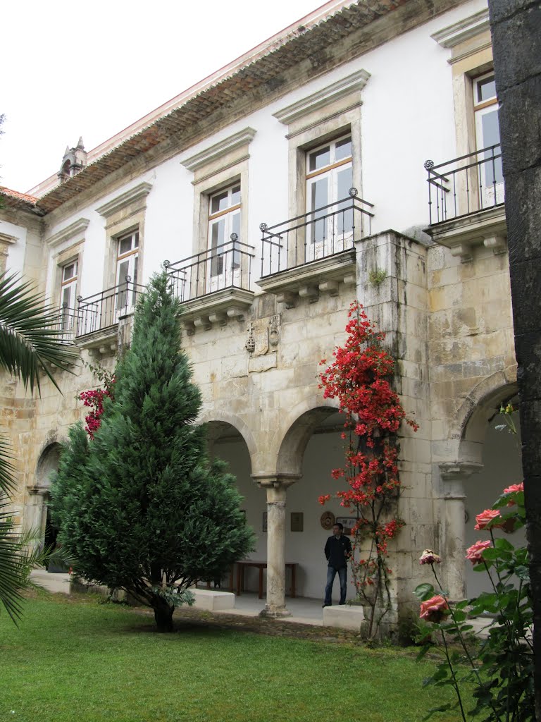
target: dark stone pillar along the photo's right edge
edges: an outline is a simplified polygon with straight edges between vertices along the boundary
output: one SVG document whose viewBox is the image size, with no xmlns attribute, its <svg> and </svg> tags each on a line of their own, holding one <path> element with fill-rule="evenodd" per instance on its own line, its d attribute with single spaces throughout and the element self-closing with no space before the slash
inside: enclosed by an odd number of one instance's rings
<svg viewBox="0 0 541 722">
<path fill-rule="evenodd" d="M 541 720 L 541 9 L 489 0 L 509 271 L 520 393 L 522 469 L 534 614 L 535 706 Z"/>
</svg>

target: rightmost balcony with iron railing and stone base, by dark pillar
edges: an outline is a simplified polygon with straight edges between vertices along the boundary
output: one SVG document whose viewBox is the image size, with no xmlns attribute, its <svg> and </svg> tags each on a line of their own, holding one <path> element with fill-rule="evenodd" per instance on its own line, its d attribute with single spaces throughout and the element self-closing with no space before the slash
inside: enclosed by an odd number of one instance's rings
<svg viewBox="0 0 541 722">
<path fill-rule="evenodd" d="M 493 145 L 454 160 L 424 164 L 428 172 L 426 229 L 436 243 L 470 261 L 472 247 L 506 251 L 505 191 L 501 147 Z"/>
</svg>

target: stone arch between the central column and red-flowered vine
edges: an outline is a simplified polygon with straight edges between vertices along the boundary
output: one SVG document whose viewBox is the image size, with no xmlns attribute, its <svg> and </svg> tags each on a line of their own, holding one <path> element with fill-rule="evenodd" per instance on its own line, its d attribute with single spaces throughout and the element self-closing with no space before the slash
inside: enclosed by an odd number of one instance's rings
<svg viewBox="0 0 541 722">
<path fill-rule="evenodd" d="M 276 473 L 279 476 L 300 477 L 304 451 L 315 429 L 327 417 L 338 411 L 338 401 L 328 399 L 316 404 L 302 401 L 294 406 L 283 422 L 285 432 L 278 446 Z"/>
</svg>

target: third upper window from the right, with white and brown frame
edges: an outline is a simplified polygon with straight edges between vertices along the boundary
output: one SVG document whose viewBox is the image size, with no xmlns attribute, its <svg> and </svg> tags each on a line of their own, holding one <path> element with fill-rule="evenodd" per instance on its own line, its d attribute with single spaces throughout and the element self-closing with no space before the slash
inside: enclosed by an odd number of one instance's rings
<svg viewBox="0 0 541 722">
<path fill-rule="evenodd" d="M 208 251 L 211 279 L 240 266 L 240 183 L 213 193 L 208 199 Z M 232 234 L 234 239 L 232 240 Z"/>
</svg>

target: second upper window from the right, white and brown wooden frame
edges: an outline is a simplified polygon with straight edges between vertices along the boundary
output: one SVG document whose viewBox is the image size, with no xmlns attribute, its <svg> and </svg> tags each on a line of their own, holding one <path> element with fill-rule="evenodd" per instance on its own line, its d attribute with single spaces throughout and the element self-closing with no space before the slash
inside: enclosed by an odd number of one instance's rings
<svg viewBox="0 0 541 722">
<path fill-rule="evenodd" d="M 343 240 L 353 230 L 351 134 L 307 152 L 307 221 L 311 243 Z M 343 201 L 343 202 L 340 202 Z"/>
</svg>

